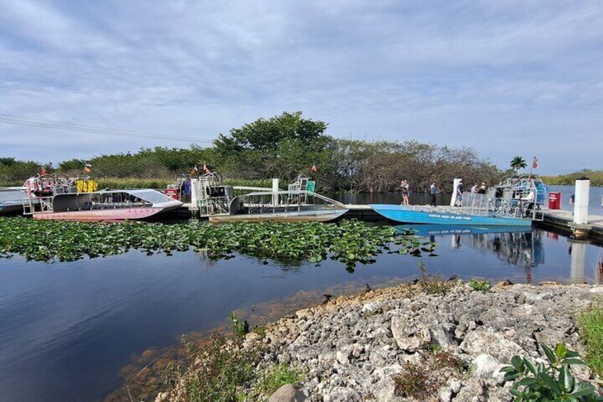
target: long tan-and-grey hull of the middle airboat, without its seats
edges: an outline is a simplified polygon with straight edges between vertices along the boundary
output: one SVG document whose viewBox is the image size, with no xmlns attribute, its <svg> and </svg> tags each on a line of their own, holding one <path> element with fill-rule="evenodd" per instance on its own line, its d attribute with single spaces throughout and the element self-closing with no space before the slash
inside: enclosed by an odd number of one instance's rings
<svg viewBox="0 0 603 402">
<path fill-rule="evenodd" d="M 328 211 L 295 211 L 282 213 L 241 213 L 238 215 L 213 215 L 211 223 L 226 222 L 326 222 L 339 218 L 347 209 Z"/>
</svg>

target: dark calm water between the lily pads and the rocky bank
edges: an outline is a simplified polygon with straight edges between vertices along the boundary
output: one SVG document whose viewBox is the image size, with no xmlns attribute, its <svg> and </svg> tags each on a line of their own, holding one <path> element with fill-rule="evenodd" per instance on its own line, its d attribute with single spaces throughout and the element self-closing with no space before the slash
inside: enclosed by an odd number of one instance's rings
<svg viewBox="0 0 603 402">
<path fill-rule="evenodd" d="M 602 280 L 601 248 L 547 231 L 432 230 L 425 238 L 439 256 L 422 260 L 444 277 Z M 132 354 L 215 327 L 230 311 L 343 284 L 410 280 L 417 263 L 383 254 L 348 273 L 333 261 L 265 265 L 240 255 L 209 261 L 192 251 L 56 264 L 0 260 L 0 401 L 99 401 L 121 385 L 119 371 Z"/>
</svg>

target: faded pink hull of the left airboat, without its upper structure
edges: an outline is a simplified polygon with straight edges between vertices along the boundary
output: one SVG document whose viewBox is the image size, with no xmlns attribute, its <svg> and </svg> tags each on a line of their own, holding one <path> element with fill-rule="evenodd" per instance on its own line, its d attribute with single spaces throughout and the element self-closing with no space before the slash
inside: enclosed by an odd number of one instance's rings
<svg viewBox="0 0 603 402">
<path fill-rule="evenodd" d="M 77 222 L 121 222 L 150 218 L 171 208 L 115 208 L 92 211 L 38 212 L 34 219 Z"/>
</svg>

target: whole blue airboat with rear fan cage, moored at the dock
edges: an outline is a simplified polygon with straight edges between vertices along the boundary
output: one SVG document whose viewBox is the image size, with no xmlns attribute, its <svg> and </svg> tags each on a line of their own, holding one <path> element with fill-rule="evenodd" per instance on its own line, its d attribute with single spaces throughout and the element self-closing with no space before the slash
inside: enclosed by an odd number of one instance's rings
<svg viewBox="0 0 603 402">
<path fill-rule="evenodd" d="M 463 194 L 460 206 L 370 204 L 398 223 L 462 226 L 531 226 L 542 221 L 547 190 L 537 176 L 506 176 L 486 194 Z"/>
</svg>

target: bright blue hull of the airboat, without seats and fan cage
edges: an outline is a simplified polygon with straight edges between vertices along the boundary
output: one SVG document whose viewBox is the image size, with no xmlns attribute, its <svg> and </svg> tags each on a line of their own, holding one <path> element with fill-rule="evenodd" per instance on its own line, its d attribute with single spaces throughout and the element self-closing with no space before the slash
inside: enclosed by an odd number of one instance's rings
<svg viewBox="0 0 603 402">
<path fill-rule="evenodd" d="M 474 216 L 463 213 L 442 213 L 415 211 L 400 205 L 370 204 L 375 212 L 399 223 L 420 223 L 432 225 L 462 226 L 532 226 L 528 219 L 506 218 L 500 216 Z"/>
</svg>

